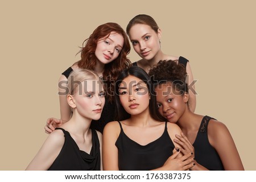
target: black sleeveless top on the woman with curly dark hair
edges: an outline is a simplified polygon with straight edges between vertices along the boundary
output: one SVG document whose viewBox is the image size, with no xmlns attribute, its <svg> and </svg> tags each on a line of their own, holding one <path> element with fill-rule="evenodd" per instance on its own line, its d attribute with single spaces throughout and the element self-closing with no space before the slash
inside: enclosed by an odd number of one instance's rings
<svg viewBox="0 0 256 182">
<path fill-rule="evenodd" d="M 202 119 L 199 131 L 196 136 L 196 140 L 193 143 L 195 148 L 195 159 L 197 163 L 201 164 L 205 168 L 214 171 L 224 170 L 218 152 L 210 145 L 208 139 L 207 127 L 211 118 L 207 115 Z"/>
</svg>

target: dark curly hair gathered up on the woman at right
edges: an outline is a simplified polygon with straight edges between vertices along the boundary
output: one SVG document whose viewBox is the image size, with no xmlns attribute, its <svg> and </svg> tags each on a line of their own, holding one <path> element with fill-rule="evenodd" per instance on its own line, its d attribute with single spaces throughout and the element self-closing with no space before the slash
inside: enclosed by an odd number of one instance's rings
<svg viewBox="0 0 256 182">
<path fill-rule="evenodd" d="M 148 73 L 154 86 L 166 84 L 171 82 L 173 88 L 179 89 L 182 94 L 188 93 L 188 86 L 186 84 L 186 68 L 177 60 L 160 60 L 158 64 L 154 65 Z"/>
</svg>

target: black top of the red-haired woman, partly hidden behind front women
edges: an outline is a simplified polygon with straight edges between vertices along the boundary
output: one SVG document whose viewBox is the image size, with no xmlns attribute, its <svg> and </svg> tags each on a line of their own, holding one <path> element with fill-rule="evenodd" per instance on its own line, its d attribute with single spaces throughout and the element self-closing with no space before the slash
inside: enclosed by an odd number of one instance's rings
<svg viewBox="0 0 256 182">
<path fill-rule="evenodd" d="M 66 78 L 71 74 L 73 69 L 69 67 L 66 71 L 62 73 Z M 122 120 L 130 118 L 130 115 L 126 113 L 126 111 L 123 109 L 123 118 Z M 109 102 L 107 99 L 105 100 L 105 105 L 102 109 L 101 117 L 100 119 L 92 120 L 92 123 L 90 124 L 90 129 L 100 131 L 100 133 L 103 133 L 103 129 L 106 126 L 106 124 L 110 121 L 115 120 L 115 104 L 114 102 Z"/>
</svg>

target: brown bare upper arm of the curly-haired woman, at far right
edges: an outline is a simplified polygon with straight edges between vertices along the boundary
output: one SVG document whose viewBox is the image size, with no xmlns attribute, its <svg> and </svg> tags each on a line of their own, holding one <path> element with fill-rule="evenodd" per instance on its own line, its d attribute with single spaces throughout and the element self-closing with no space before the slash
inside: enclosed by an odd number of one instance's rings
<svg viewBox="0 0 256 182">
<path fill-rule="evenodd" d="M 224 123 L 211 119 L 208 124 L 208 138 L 218 152 L 225 170 L 244 170 L 236 144 Z"/>
</svg>

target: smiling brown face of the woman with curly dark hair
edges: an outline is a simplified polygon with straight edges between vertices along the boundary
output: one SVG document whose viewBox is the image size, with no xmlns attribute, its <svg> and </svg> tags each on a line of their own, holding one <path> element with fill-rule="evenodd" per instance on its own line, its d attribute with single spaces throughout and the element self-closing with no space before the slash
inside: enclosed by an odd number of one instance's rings
<svg viewBox="0 0 256 182">
<path fill-rule="evenodd" d="M 175 92 L 171 84 L 156 86 L 156 102 L 158 110 L 169 122 L 176 123 L 185 111 L 187 101 L 179 92 Z"/>
</svg>

